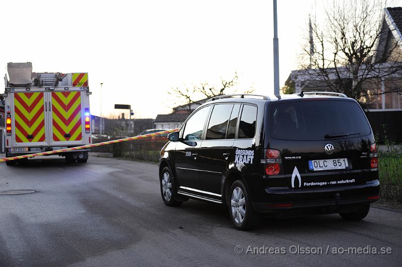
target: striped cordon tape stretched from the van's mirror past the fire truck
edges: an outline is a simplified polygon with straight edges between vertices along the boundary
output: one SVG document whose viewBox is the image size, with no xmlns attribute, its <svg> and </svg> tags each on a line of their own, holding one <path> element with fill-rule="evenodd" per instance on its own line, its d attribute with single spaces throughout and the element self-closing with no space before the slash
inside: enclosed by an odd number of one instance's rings
<svg viewBox="0 0 402 267">
<path fill-rule="evenodd" d="M 40 152 L 40 153 L 34 153 L 34 154 L 28 154 L 28 155 L 22 155 L 22 156 L 10 157 L 10 158 L 3 158 L 3 159 L 0 159 L 0 162 L 19 160 L 19 159 L 24 159 L 24 158 L 31 158 L 31 157 L 35 157 L 35 156 L 45 156 L 45 155 L 51 155 L 51 154 L 56 154 L 56 153 L 61 153 L 61 152 L 80 150 L 80 149 L 87 149 L 87 148 L 92 148 L 92 147 L 97 147 L 97 146 L 103 146 L 103 145 L 109 145 L 109 144 L 114 144 L 114 143 L 126 142 L 126 141 L 130 141 L 130 140 L 143 139 L 143 138 L 147 138 L 147 137 L 154 137 L 154 136 L 163 135 L 163 133 L 169 133 L 169 132 L 173 132 L 173 131 L 177 131 L 177 130 L 178 129 L 164 130 L 164 131 L 148 133 L 148 135 L 123 138 L 123 139 L 118 139 L 118 140 L 113 140 L 113 141 L 96 143 L 96 144 L 92 144 L 92 145 L 85 145 L 85 146 L 79 146 L 79 147 L 68 148 L 68 149 L 52 150 L 52 151 L 47 151 L 47 152 Z"/>
</svg>

